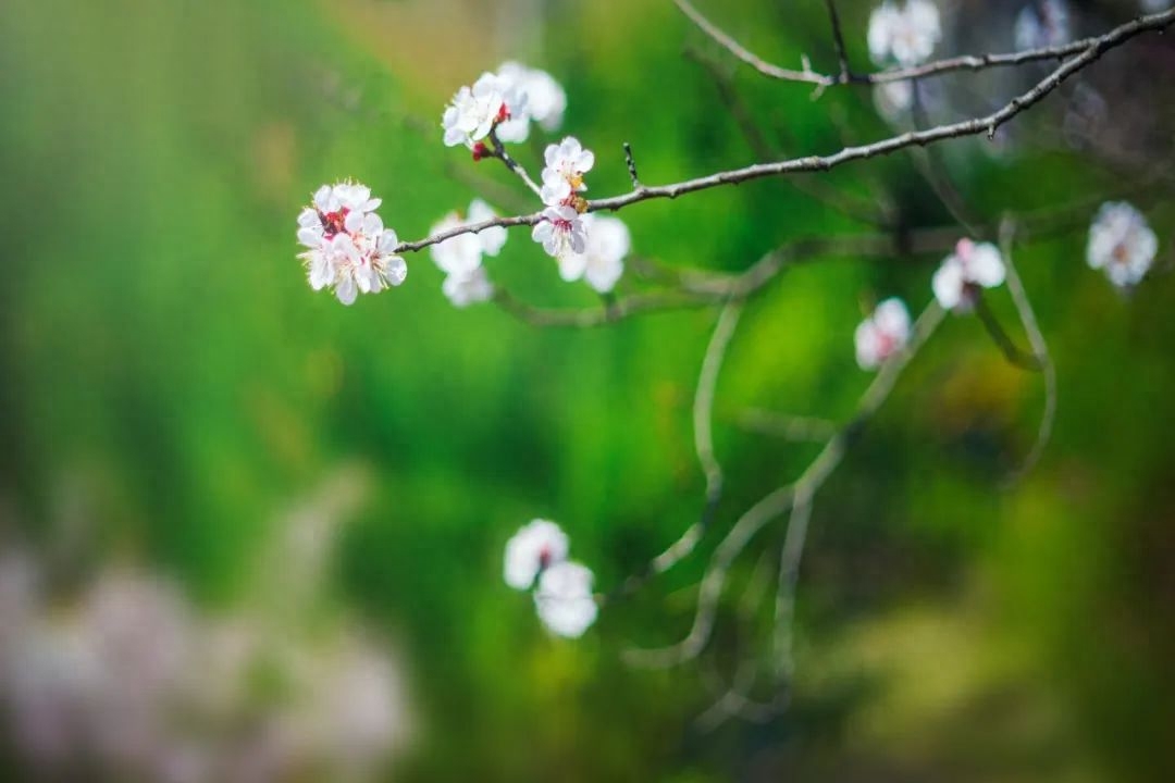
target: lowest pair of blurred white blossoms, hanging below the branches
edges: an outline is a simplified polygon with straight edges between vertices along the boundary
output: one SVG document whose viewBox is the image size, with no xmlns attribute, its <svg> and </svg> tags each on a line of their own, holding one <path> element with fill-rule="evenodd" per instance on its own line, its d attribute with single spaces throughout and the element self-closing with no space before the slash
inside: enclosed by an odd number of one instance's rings
<svg viewBox="0 0 1175 783">
<path fill-rule="evenodd" d="M 506 541 L 503 573 L 506 585 L 517 590 L 535 587 L 535 609 L 548 630 L 577 639 L 596 622 L 599 607 L 592 595 L 591 569 L 569 561 L 569 548 L 558 525 L 532 520 Z"/>
</svg>

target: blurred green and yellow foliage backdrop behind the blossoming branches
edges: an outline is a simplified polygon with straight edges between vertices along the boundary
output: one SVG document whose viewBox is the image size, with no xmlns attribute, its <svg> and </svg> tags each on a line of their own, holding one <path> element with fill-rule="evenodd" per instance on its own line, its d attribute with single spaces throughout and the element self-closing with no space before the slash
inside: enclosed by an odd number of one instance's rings
<svg viewBox="0 0 1175 783">
<path fill-rule="evenodd" d="M 870 5 L 840 5 L 864 66 Z M 820 2 L 704 9 L 768 59 L 834 62 Z M 993 27 L 1010 25 L 1003 4 L 991 9 Z M 404 666 L 415 743 L 392 779 L 1170 779 L 1175 281 L 1162 261 L 1120 296 L 1085 265 L 1085 216 L 1019 256 L 1059 370 L 1041 464 L 1003 486 L 1032 445 L 1040 377 L 1005 362 L 975 319 L 949 319 L 815 499 L 798 680 L 777 720 L 696 724 L 712 670 L 750 654 L 737 629 L 720 628 L 713 660 L 677 670 L 630 669 L 620 653 L 685 632 L 705 552 L 814 454 L 740 431 L 739 411 L 847 416 L 868 382 L 852 351 L 862 308 L 899 295 L 920 309 L 940 255 L 830 258 L 751 305 L 719 386 L 728 488 L 701 556 L 576 642 L 549 637 L 502 582 L 502 547 L 531 518 L 563 525 L 609 589 L 697 517 L 690 405 L 716 313 L 535 329 L 492 305 L 455 310 L 427 254 L 408 258 L 402 288 L 348 309 L 307 285 L 297 210 L 351 176 L 418 238 L 477 194 L 468 175 L 513 209 L 496 196 L 525 196 L 509 174 L 444 148 L 438 127 L 452 92 L 504 59 L 564 85 L 564 130 L 597 153 L 592 195 L 629 187 L 625 141 L 650 183 L 741 166 L 753 153 L 687 45 L 733 74 L 781 151 L 891 133 L 867 92 L 813 101 L 736 69 L 659 0 L 0 6 L 4 525 L 42 545 L 83 525 L 75 558 L 133 558 L 216 607 L 244 589 L 290 502 L 358 466 L 367 491 L 329 589 Z M 1169 80 L 1169 50 L 1137 48 Z M 1122 96 L 1169 113 L 1146 90 Z M 953 143 L 946 160 L 976 214 L 1122 185 L 1121 167 L 1034 143 L 1062 109 L 1018 121 L 998 156 Z M 1170 127 L 1141 151 L 1170 160 Z M 538 153 L 536 141 L 518 157 Z M 892 202 L 906 225 L 952 224 L 907 157 L 821 178 Z M 1169 194 L 1136 202 L 1161 259 Z M 638 254 L 714 270 L 788 238 L 871 230 L 771 181 L 623 217 Z M 525 230 L 489 263 L 528 302 L 598 304 L 559 282 Z M 1006 291 L 993 306 L 1023 342 Z"/>
</svg>

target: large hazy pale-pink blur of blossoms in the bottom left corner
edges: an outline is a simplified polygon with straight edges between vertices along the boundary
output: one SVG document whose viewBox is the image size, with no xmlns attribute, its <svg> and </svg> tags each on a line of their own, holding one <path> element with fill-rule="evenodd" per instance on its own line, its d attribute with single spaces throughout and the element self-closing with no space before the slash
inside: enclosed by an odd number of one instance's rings
<svg viewBox="0 0 1175 783">
<path fill-rule="evenodd" d="M 374 781 L 403 738 L 400 675 L 354 628 L 201 615 L 125 567 L 62 601 L 43 571 L 0 552 L 0 718 L 35 779 Z"/>
</svg>

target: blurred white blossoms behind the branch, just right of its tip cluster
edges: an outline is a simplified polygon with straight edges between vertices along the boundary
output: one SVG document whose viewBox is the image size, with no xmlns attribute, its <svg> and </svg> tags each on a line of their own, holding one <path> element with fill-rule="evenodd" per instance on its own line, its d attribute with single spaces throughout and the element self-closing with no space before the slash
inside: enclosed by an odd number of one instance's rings
<svg viewBox="0 0 1175 783">
<path fill-rule="evenodd" d="M 483 223 L 494 217 L 490 205 L 475 198 L 469 204 L 466 220 L 462 220 L 457 212 L 449 212 L 432 227 L 430 234 Z M 445 274 L 441 290 L 454 305 L 464 308 L 494 296 L 494 285 L 482 266 L 482 256 L 498 255 L 505 243 L 506 230 L 501 225 L 491 225 L 477 234 L 458 234 L 431 247 L 432 261 Z"/>
</svg>

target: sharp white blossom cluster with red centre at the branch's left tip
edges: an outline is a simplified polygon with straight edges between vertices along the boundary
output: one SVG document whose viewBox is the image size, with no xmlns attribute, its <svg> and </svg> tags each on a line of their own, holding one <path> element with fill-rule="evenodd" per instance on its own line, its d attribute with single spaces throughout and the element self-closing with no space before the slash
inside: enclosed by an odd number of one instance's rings
<svg viewBox="0 0 1175 783">
<path fill-rule="evenodd" d="M 356 296 L 400 285 L 408 264 L 395 255 L 396 232 L 375 214 L 380 200 L 355 182 L 322 185 L 298 215 L 297 239 L 307 248 L 298 258 L 307 266 L 310 288 L 333 288 L 343 304 Z"/>
</svg>

